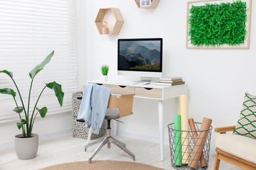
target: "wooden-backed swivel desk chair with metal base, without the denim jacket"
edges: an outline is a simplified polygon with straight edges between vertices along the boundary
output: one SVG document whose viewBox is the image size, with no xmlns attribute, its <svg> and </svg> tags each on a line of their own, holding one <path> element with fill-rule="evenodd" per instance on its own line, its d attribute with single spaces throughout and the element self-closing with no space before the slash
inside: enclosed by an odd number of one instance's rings
<svg viewBox="0 0 256 170">
<path fill-rule="evenodd" d="M 128 116 L 130 114 L 133 114 L 132 109 L 133 109 L 133 94 L 123 94 L 118 97 L 115 97 L 114 95 L 110 95 L 110 99 L 108 101 L 108 109 L 106 109 L 106 115 L 104 118 L 105 120 L 108 121 L 108 127 L 106 129 L 106 137 L 102 137 L 98 141 L 85 145 L 85 152 L 86 152 L 87 148 L 89 148 L 90 146 L 100 143 L 100 145 L 96 148 L 96 150 L 90 156 L 89 163 L 91 163 L 91 160 L 95 157 L 95 155 L 100 151 L 100 149 L 105 144 L 108 144 L 108 148 L 110 148 L 111 143 L 116 144 L 116 146 L 118 146 L 119 148 L 121 148 L 121 150 L 129 154 L 129 156 L 133 158 L 133 161 L 135 161 L 135 155 L 126 148 L 126 144 L 122 143 L 121 141 L 111 136 L 111 127 L 110 127 L 110 120 L 116 120 L 117 118 L 121 118 L 123 116 Z M 89 134 L 89 137 L 90 136 L 91 134 Z"/>
</svg>

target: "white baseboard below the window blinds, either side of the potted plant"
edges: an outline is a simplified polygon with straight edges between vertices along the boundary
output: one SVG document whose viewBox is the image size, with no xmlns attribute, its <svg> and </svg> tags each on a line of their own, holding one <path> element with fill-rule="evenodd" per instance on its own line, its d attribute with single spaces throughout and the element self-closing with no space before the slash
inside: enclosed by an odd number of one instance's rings
<svg viewBox="0 0 256 170">
<path fill-rule="evenodd" d="M 39 135 L 39 141 L 47 140 L 47 139 L 53 139 L 56 137 L 62 137 L 64 135 L 72 135 L 73 129 L 66 129 L 63 131 L 56 131 L 54 133 L 48 133 L 45 135 Z M 14 141 L 11 143 L 4 143 L 0 144 L 0 150 L 5 150 L 8 148 L 13 148 L 14 147 Z"/>
</svg>

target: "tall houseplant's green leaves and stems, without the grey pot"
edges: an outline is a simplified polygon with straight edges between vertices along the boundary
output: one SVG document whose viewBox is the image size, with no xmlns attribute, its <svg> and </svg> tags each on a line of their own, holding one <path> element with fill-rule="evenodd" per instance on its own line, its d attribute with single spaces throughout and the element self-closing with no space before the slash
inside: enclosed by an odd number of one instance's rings
<svg viewBox="0 0 256 170">
<path fill-rule="evenodd" d="M 16 124 L 18 126 L 18 129 L 22 129 L 22 137 L 23 138 L 28 138 L 28 137 L 32 136 L 33 124 L 35 122 L 35 117 L 37 116 L 38 112 L 39 112 L 39 114 L 41 115 L 42 118 L 44 118 L 45 115 L 47 114 L 47 107 L 42 107 L 41 109 L 37 108 L 37 103 L 38 103 L 43 91 L 45 90 L 45 88 L 50 88 L 50 89 L 54 90 L 55 95 L 58 98 L 58 103 L 60 103 L 60 106 L 62 106 L 62 104 L 63 104 L 64 92 L 62 92 L 61 85 L 56 83 L 56 82 L 49 82 L 49 83 L 45 84 L 45 87 L 43 88 L 43 90 L 39 94 L 39 97 L 37 98 L 37 101 L 35 103 L 35 106 L 33 107 L 32 112 L 30 110 L 30 108 L 31 108 L 30 107 L 30 96 L 31 96 L 31 92 L 32 92 L 33 80 L 34 80 L 35 76 L 37 75 L 37 73 L 39 73 L 39 71 L 41 71 L 47 63 L 49 63 L 49 61 L 53 57 L 53 54 L 54 54 L 54 51 L 51 52 L 51 54 L 49 54 L 47 56 L 47 58 L 45 58 L 41 64 L 37 65 L 29 73 L 30 78 L 32 80 L 31 80 L 31 83 L 30 83 L 30 91 L 29 91 L 29 95 L 28 95 L 28 107 L 26 107 L 24 105 L 22 95 L 20 93 L 20 90 L 18 89 L 18 86 L 17 86 L 16 82 L 14 81 L 12 72 L 7 71 L 7 70 L 0 70 L 0 73 L 5 73 L 6 75 L 8 75 L 12 79 L 12 82 L 14 83 L 14 85 L 16 87 L 16 90 L 18 92 L 18 95 L 20 97 L 20 102 L 21 102 L 22 106 L 18 105 L 18 103 L 16 101 L 16 98 L 15 98 L 16 97 L 16 92 L 14 92 L 14 90 L 12 90 L 11 88 L 1 88 L 0 89 L 0 93 L 12 95 L 12 97 L 14 99 L 16 107 L 13 109 L 13 111 L 16 112 L 18 114 L 19 118 L 20 118 L 20 122 L 17 122 Z M 22 112 L 24 112 L 24 115 L 21 115 Z"/>
</svg>

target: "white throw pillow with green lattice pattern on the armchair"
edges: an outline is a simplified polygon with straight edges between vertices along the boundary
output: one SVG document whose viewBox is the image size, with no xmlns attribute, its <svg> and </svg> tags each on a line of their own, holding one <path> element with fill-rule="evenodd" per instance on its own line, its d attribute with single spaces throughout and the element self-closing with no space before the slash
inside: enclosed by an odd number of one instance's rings
<svg viewBox="0 0 256 170">
<path fill-rule="evenodd" d="M 256 97 L 247 92 L 234 133 L 256 139 Z"/>
</svg>

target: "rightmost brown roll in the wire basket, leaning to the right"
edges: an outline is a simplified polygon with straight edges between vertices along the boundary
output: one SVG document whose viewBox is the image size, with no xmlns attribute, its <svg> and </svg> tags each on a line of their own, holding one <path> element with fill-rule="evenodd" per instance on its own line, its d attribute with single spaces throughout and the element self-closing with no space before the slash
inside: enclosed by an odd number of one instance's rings
<svg viewBox="0 0 256 170">
<path fill-rule="evenodd" d="M 205 144 L 205 140 L 211 127 L 212 121 L 213 120 L 209 118 L 203 118 L 203 122 L 200 127 L 200 133 L 198 133 L 198 137 L 192 150 L 192 156 L 188 164 L 192 169 L 198 169 L 198 162 L 200 160 L 200 156 L 202 155 L 203 146 Z"/>
</svg>

